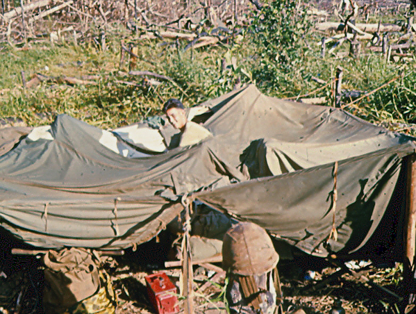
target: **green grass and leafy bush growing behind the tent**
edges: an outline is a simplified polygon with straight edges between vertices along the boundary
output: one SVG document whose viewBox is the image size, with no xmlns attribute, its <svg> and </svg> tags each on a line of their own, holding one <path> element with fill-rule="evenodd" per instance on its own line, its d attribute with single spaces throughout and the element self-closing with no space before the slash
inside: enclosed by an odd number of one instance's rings
<svg viewBox="0 0 416 314">
<path fill-rule="evenodd" d="M 333 46 L 333 52 L 322 58 L 322 34 L 314 31 L 305 6 L 295 0 L 270 1 L 262 10 L 253 10 L 247 16 L 248 26 L 231 40 L 200 49 L 190 49 L 178 40 L 140 39 L 141 31 L 129 33 L 120 24 L 107 27 L 106 51 L 94 40 L 99 35 L 97 27 L 90 28 L 90 40 L 81 44 L 69 38 L 54 44 L 29 43 L 26 49 L 3 44 L 0 115 L 35 126 L 67 113 L 102 128 L 114 128 L 159 113 L 170 97 L 193 106 L 245 83 L 255 83 L 274 97 L 326 97 L 328 106 L 333 106 L 332 82 L 340 66 L 344 90 L 360 95 L 372 92 L 356 102 L 342 99 L 345 110 L 414 133 L 407 125 L 416 123 L 415 58 L 386 62 L 382 53 L 365 48 L 358 58 L 338 58 L 336 53 L 348 51 L 348 41 Z M 406 22 L 404 14 L 395 19 Z M 200 33 L 210 32 L 207 24 L 199 27 Z M 120 62 L 122 40 L 126 46 L 138 47 L 140 58 L 129 62 L 124 56 Z M 153 85 L 143 76 L 126 74 L 132 66 L 172 79 Z M 22 71 L 26 82 L 36 73 L 49 79 L 35 88 L 23 88 Z M 64 76 L 94 76 L 97 84 L 68 84 L 60 80 Z M 313 81 L 315 77 L 326 84 Z"/>
</svg>

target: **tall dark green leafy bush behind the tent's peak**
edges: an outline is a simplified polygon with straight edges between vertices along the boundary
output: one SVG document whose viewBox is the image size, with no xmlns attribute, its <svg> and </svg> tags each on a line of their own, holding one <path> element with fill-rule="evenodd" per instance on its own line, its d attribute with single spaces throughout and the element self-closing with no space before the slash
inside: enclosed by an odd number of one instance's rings
<svg viewBox="0 0 416 314">
<path fill-rule="evenodd" d="M 255 15 L 250 30 L 256 46 L 258 65 L 253 79 L 265 90 L 290 84 L 290 73 L 304 60 L 304 35 L 311 24 L 305 6 L 295 0 L 275 0 Z"/>
</svg>

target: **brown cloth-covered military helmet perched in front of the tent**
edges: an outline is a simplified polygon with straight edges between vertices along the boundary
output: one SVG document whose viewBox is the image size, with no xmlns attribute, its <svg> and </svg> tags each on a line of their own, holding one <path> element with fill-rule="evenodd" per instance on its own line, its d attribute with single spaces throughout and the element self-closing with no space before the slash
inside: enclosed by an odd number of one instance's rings
<svg viewBox="0 0 416 314">
<path fill-rule="evenodd" d="M 269 235 L 253 222 L 240 222 L 224 235 L 224 270 L 241 276 L 264 274 L 276 267 L 278 254 Z"/>
</svg>

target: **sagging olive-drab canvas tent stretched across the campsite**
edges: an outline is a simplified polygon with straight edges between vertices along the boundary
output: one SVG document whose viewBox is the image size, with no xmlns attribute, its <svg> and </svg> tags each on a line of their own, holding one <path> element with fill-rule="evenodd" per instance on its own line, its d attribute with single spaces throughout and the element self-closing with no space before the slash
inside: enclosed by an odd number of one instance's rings
<svg viewBox="0 0 416 314">
<path fill-rule="evenodd" d="M 413 138 L 253 85 L 203 106 L 194 121 L 213 138 L 170 150 L 148 122 L 141 137 L 115 130 L 111 149 L 109 133 L 58 116 L 0 157 L 1 226 L 36 247 L 123 248 L 153 238 L 188 195 L 325 256 L 363 247 L 386 215 L 400 221 Z"/>
</svg>

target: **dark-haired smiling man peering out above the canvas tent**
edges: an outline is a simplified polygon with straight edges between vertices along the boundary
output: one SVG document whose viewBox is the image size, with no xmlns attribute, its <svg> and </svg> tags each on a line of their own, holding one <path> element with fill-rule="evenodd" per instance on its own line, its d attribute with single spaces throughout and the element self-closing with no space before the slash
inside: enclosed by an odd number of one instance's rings
<svg viewBox="0 0 416 314">
<path fill-rule="evenodd" d="M 163 112 L 166 114 L 167 119 L 169 119 L 170 124 L 172 124 L 175 129 L 181 131 L 181 140 L 179 140 L 178 144 L 179 147 L 197 144 L 201 142 L 201 140 L 213 136 L 210 131 L 203 126 L 188 121 L 185 108 L 178 99 L 172 98 L 166 101 L 163 106 Z"/>
</svg>

